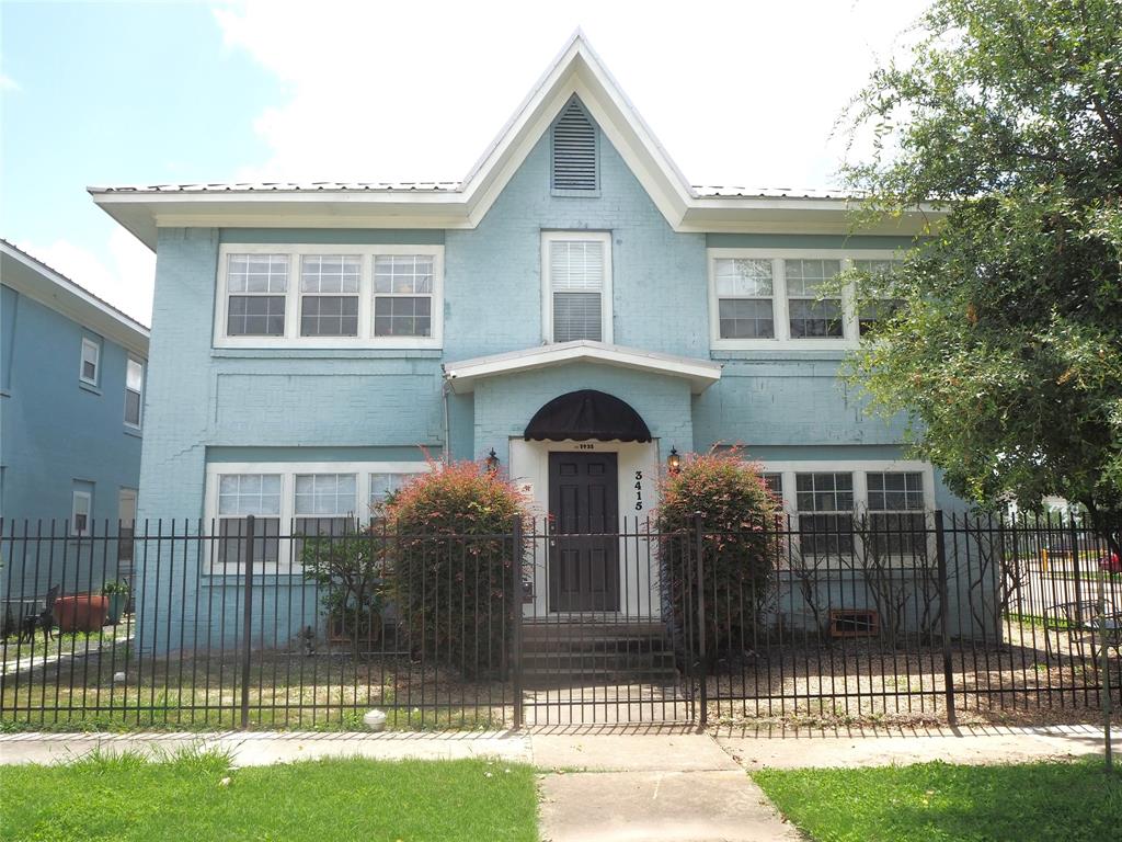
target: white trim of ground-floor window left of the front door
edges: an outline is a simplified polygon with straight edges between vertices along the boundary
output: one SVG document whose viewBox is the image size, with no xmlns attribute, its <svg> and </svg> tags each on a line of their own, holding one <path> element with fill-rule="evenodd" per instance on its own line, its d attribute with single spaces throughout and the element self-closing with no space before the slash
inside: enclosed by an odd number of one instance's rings
<svg viewBox="0 0 1122 842">
<path fill-rule="evenodd" d="M 366 520 L 370 494 L 371 474 L 427 474 L 432 467 L 426 461 L 223 461 L 206 466 L 205 498 L 203 501 L 204 531 L 218 536 L 218 494 L 221 477 L 228 474 L 278 474 L 280 476 L 280 534 L 292 534 L 292 525 L 296 514 L 296 475 L 297 474 L 355 474 L 355 516 Z M 268 515 L 273 516 L 273 515 Z M 218 540 L 208 541 L 204 573 L 221 576 L 230 574 L 233 565 L 217 565 Z M 218 568 L 218 569 L 215 569 Z M 298 573 L 300 565 L 282 560 L 275 573 Z M 274 570 L 266 570 L 274 573 Z"/>
</svg>

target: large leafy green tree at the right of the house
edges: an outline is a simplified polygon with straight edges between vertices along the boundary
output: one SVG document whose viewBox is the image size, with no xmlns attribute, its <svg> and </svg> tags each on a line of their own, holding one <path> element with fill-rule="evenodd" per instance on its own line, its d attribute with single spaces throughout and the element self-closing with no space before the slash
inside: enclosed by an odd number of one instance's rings
<svg viewBox="0 0 1122 842">
<path fill-rule="evenodd" d="M 1086 507 L 1122 527 L 1122 3 L 936 0 L 907 61 L 854 99 L 866 218 L 941 217 L 892 274 L 894 314 L 850 363 L 912 420 L 958 494 Z M 935 214 L 932 214 L 935 219 Z"/>
</svg>

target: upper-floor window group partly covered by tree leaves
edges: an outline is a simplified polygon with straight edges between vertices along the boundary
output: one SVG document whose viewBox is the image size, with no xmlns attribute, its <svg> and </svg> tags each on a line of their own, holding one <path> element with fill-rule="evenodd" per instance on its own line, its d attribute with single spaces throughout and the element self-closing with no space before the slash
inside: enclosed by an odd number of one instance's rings
<svg viewBox="0 0 1122 842">
<path fill-rule="evenodd" d="M 828 289 L 850 266 L 888 271 L 891 251 L 764 248 L 709 249 L 709 322 L 714 349 L 855 347 L 879 303 L 858 318 L 853 291 Z"/>
</svg>

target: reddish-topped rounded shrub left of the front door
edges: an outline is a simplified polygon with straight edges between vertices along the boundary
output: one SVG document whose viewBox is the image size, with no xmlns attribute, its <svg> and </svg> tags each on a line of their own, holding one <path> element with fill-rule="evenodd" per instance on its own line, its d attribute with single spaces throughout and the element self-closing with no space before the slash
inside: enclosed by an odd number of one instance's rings
<svg viewBox="0 0 1122 842">
<path fill-rule="evenodd" d="M 512 593 L 515 520 L 526 520 L 518 491 L 471 461 L 421 476 L 386 503 L 389 591 L 414 651 L 466 676 L 504 666 L 506 635 L 522 594 Z"/>
</svg>

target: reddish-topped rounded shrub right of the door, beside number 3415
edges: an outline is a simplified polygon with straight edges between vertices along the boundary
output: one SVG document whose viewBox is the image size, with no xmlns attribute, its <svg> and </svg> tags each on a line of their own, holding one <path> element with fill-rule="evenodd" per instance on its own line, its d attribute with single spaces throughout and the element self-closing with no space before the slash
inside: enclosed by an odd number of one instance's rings
<svg viewBox="0 0 1122 842">
<path fill-rule="evenodd" d="M 745 649 L 779 555 L 778 501 L 757 466 L 743 461 L 735 449 L 687 456 L 677 474 L 662 478 L 660 495 L 660 533 L 692 530 L 695 513 L 701 514 L 708 651 Z M 696 622 L 696 546 L 690 532 L 688 541 L 666 538 L 661 548 L 663 582 L 680 628 L 686 617 Z"/>
</svg>

